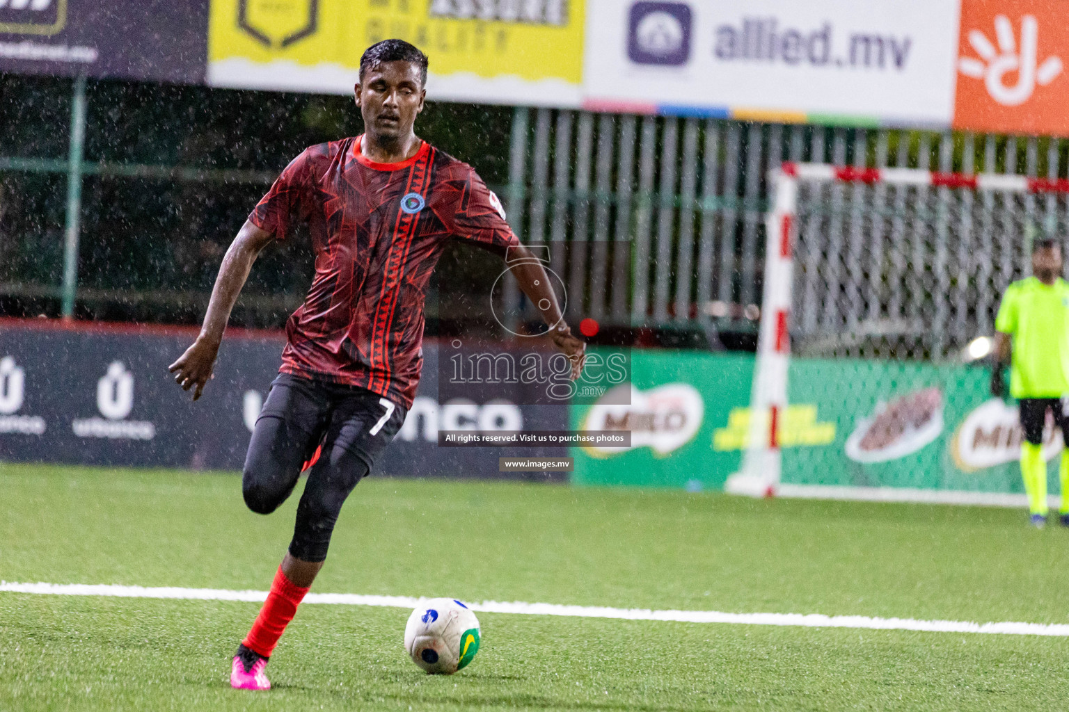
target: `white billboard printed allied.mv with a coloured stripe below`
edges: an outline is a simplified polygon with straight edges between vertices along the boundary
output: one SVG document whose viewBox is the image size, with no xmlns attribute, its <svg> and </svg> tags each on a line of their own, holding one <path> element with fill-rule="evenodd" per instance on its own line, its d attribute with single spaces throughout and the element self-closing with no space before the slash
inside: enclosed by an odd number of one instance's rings
<svg viewBox="0 0 1069 712">
<path fill-rule="evenodd" d="M 950 123 L 958 0 L 588 0 L 594 110 Z"/>
</svg>

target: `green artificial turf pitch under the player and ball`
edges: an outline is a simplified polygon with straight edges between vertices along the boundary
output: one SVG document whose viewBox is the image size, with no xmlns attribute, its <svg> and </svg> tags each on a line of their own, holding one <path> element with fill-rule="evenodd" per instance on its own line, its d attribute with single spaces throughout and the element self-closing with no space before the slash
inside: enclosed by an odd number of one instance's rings
<svg viewBox="0 0 1069 712">
<path fill-rule="evenodd" d="M 231 474 L 0 465 L 0 579 L 266 589 L 296 496 Z M 1021 511 L 376 479 L 320 592 L 1069 622 L 1069 531 Z M 254 603 L 0 592 L 0 710 L 1063 709 L 1069 640 L 480 614 L 453 677 L 405 659 L 407 611 L 305 605 L 231 691 Z"/>
</svg>

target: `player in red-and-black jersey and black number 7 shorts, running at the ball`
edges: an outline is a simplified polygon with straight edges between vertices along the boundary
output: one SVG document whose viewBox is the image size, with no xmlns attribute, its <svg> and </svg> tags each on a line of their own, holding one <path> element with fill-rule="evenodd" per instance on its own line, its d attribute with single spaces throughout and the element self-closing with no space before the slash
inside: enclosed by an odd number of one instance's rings
<svg viewBox="0 0 1069 712">
<path fill-rule="evenodd" d="M 317 448 L 321 455 L 309 469 L 289 551 L 234 654 L 234 687 L 270 687 L 264 667 L 326 559 L 342 503 L 412 406 L 424 288 L 447 240 L 507 256 L 554 344 L 571 359 L 573 379 L 583 367 L 585 345 L 564 323 L 544 268 L 509 228 L 497 196 L 470 165 L 416 137 L 427 64 L 400 39 L 365 51 L 355 86 L 365 133 L 311 146 L 282 171 L 227 251 L 200 335 L 170 366 L 197 400 L 257 255 L 285 239 L 294 217 L 306 222 L 315 276 L 286 322 L 280 373 L 249 442 L 246 504 L 274 511 L 306 461 Z"/>
</svg>

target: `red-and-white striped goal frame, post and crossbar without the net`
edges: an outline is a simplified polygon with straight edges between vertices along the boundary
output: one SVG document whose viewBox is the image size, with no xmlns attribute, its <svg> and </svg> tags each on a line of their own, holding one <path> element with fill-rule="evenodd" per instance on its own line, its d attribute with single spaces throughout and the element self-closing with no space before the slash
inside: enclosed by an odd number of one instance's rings
<svg viewBox="0 0 1069 712">
<path fill-rule="evenodd" d="M 749 437 L 738 473 L 725 490 L 774 496 L 781 473 L 780 428 L 787 412 L 787 375 L 792 331 L 794 252 L 799 233 L 799 186 L 824 185 L 946 188 L 1020 195 L 1069 193 L 1069 180 L 1022 175 L 939 173 L 913 169 L 864 169 L 823 163 L 785 162 L 770 172 L 774 195 L 765 221 L 764 288 L 749 410 Z M 896 288 L 897 285 L 896 285 Z M 808 305 L 806 305 L 808 308 Z"/>
</svg>

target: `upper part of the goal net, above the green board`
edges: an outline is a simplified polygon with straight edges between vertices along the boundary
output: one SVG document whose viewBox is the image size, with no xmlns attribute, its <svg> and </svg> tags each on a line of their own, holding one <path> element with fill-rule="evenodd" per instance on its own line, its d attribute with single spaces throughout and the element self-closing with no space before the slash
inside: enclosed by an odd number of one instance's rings
<svg viewBox="0 0 1069 712">
<path fill-rule="evenodd" d="M 793 349 L 928 360 L 990 335 L 1032 242 L 1069 227 L 1064 193 L 799 185 Z"/>
</svg>

